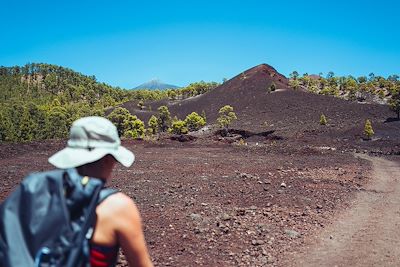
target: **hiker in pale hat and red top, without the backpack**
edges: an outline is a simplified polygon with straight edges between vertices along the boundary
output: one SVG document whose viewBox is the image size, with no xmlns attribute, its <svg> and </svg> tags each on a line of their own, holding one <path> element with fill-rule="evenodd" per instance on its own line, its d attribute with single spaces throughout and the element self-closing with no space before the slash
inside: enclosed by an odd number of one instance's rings
<svg viewBox="0 0 400 267">
<path fill-rule="evenodd" d="M 102 117 L 76 120 L 66 148 L 55 153 L 49 162 L 58 169 L 76 168 L 81 176 L 110 181 L 116 162 L 129 167 L 134 154 L 121 146 L 117 128 Z M 133 200 L 123 193 L 107 197 L 96 208 L 97 221 L 90 241 L 93 267 L 114 266 L 119 247 L 129 266 L 153 266 Z"/>
</svg>

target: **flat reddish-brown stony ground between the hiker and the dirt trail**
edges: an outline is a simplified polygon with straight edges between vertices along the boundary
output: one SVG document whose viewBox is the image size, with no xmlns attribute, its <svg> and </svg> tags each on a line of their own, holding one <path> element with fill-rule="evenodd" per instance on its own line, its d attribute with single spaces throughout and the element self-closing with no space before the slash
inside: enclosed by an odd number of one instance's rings
<svg viewBox="0 0 400 267">
<path fill-rule="evenodd" d="M 64 142 L 0 145 L 0 200 Z M 137 202 L 156 266 L 280 266 L 368 180 L 350 153 L 279 143 L 128 142 L 111 186 Z M 125 265 L 123 258 L 121 266 Z"/>
</svg>

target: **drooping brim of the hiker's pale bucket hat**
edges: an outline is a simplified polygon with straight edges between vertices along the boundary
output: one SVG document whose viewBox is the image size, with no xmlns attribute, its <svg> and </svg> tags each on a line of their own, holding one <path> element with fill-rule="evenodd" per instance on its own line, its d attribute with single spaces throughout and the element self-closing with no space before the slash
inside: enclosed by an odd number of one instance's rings
<svg viewBox="0 0 400 267">
<path fill-rule="evenodd" d="M 95 162 L 108 154 L 125 167 L 130 167 L 135 161 L 135 155 L 123 146 L 119 146 L 117 149 L 95 148 L 93 150 L 66 147 L 51 156 L 49 163 L 59 169 L 75 168 Z"/>
</svg>

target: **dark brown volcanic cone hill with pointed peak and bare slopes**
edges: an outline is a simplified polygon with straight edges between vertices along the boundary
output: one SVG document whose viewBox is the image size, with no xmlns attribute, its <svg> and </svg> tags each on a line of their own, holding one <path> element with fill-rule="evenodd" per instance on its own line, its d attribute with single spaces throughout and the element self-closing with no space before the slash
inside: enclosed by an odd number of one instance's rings
<svg viewBox="0 0 400 267">
<path fill-rule="evenodd" d="M 277 90 L 268 92 L 272 82 Z M 151 107 L 148 108 L 151 111 L 138 110 L 134 102 L 127 102 L 123 107 L 145 121 L 161 105 L 167 105 L 171 115 L 180 119 L 192 111 L 199 114 L 204 111 L 207 122 L 214 123 L 219 108 L 231 105 L 238 117 L 231 126 L 234 129 L 273 132 L 281 138 L 296 138 L 304 142 L 341 142 L 342 145 L 347 145 L 348 140 L 351 143 L 362 140 L 364 123 L 370 119 L 375 130 L 374 138 L 378 140 L 374 144 L 389 142 L 387 147 L 397 146 L 400 140 L 399 122 L 390 119 L 395 113 L 387 105 L 360 104 L 289 89 L 288 79 L 266 64 L 251 68 L 205 94 L 184 100 L 164 99 L 146 105 Z M 327 117 L 327 126 L 319 124 L 321 114 Z"/>
</svg>

